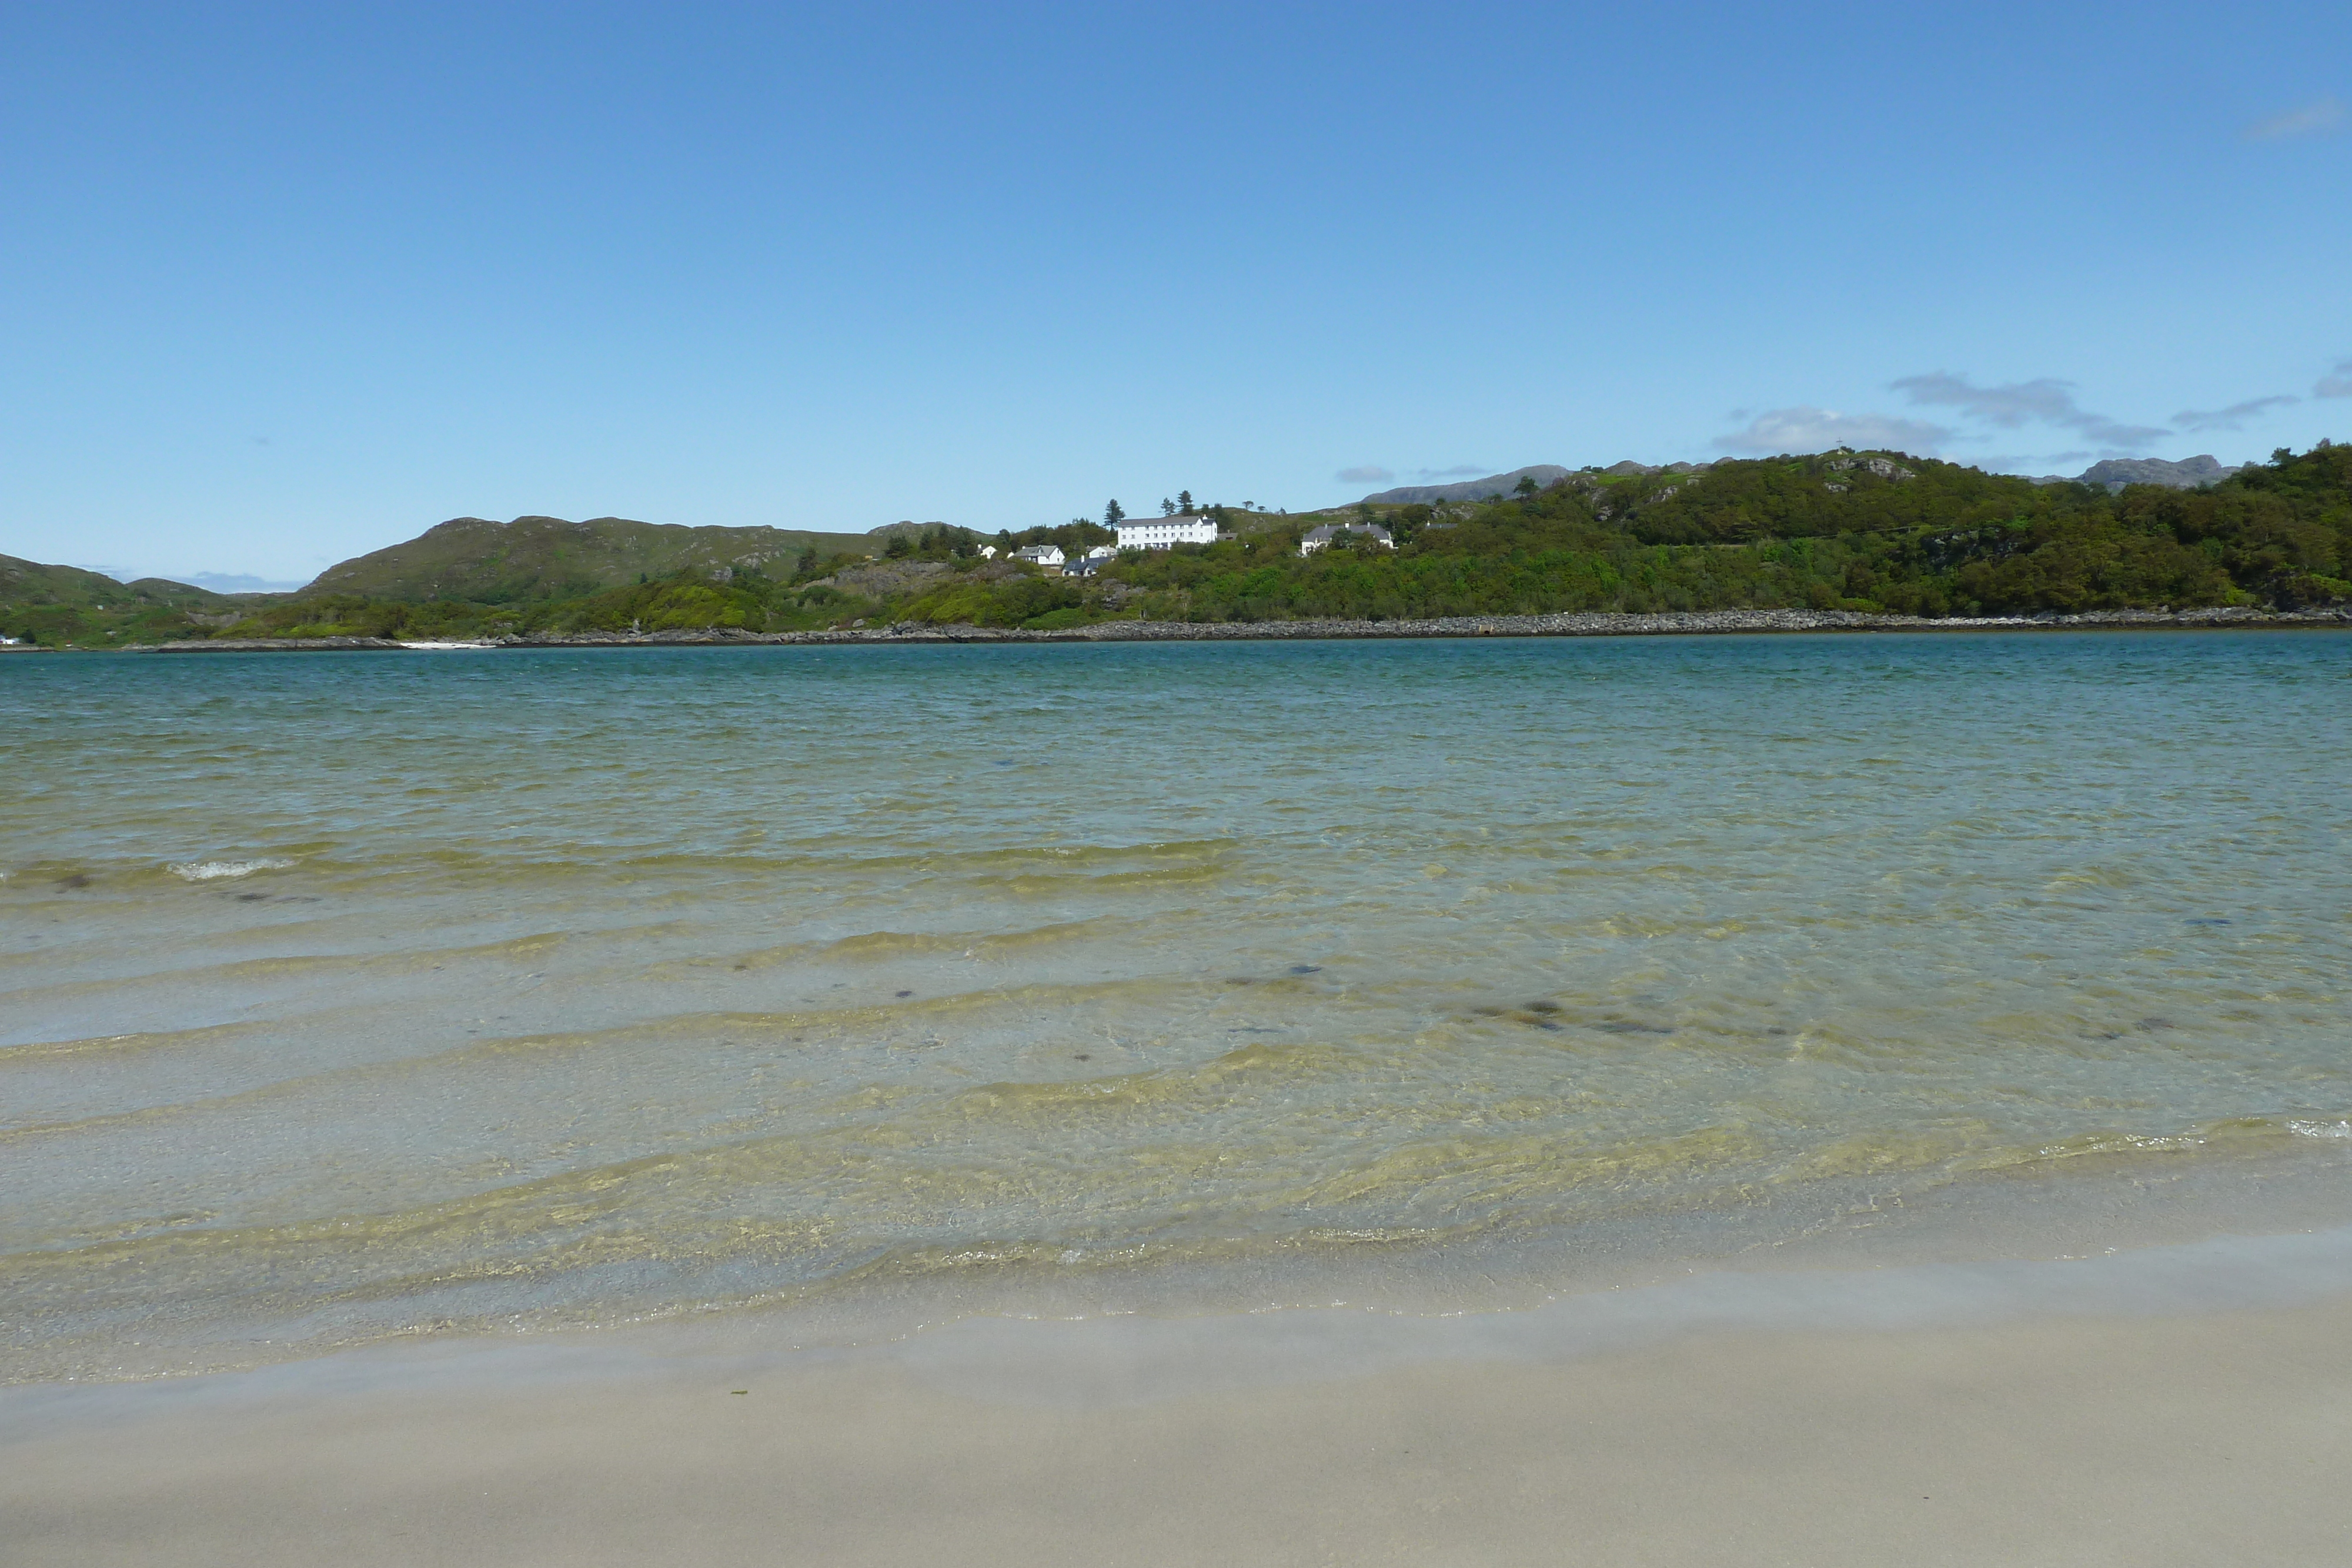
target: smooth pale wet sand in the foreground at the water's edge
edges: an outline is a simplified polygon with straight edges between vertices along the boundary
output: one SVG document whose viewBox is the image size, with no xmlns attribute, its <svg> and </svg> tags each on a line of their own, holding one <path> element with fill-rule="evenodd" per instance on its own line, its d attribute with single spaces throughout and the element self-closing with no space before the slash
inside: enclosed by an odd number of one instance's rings
<svg viewBox="0 0 2352 1568">
<path fill-rule="evenodd" d="M 1202 1366 L 1190 1392 L 1124 1394 L 1089 1328 L 567 1378 L 445 1363 L 409 1387 L 329 1359 L 245 1392 L 19 1389 L 0 1561 L 2352 1561 L 2347 1295 L 1362 1373 L 1341 1345 L 1298 1378 Z M 1040 1375 L 1056 1356 L 1073 1380 Z"/>
</svg>

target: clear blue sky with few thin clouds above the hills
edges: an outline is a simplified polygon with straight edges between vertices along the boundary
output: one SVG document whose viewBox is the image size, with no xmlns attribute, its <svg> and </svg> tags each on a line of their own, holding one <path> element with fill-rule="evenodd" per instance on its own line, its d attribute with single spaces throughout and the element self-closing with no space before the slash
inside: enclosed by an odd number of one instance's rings
<svg viewBox="0 0 2352 1568">
<path fill-rule="evenodd" d="M 2340 0 L 24 0 L 0 552 L 2241 461 L 2352 437 L 2347 106 Z"/>
</svg>

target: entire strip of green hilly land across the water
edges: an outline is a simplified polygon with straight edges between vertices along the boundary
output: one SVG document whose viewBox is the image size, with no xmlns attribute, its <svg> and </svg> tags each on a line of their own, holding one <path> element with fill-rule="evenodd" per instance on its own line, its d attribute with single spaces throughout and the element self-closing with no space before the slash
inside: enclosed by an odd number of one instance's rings
<svg viewBox="0 0 2352 1568">
<path fill-rule="evenodd" d="M 1559 473 L 1559 470 L 1550 470 Z M 482 637 L 1103 618 L 1287 621 L 1543 611 L 1853 609 L 1917 616 L 2298 609 L 2352 602 L 2352 447 L 2277 451 L 2201 489 L 2034 482 L 1893 451 L 1585 468 L 1489 501 L 1364 501 L 1284 517 L 1209 508 L 1232 538 L 1129 552 L 1089 578 L 983 559 L 941 524 L 875 534 L 456 520 L 296 595 L 136 595 L 99 646 L 162 637 Z M 1317 524 L 1378 522 L 1301 557 Z M 1068 552 L 1094 524 L 1000 534 Z M 19 574 L 21 576 L 21 574 Z M 61 590 L 49 590 L 61 592 Z M 176 595 L 176 597 L 174 597 Z M 115 604 L 115 599 L 103 599 Z M 0 574 L 0 630 L 31 625 Z M 66 623 L 66 609 L 38 614 Z M 108 609 L 106 614 L 115 614 Z M 52 639 L 47 632 L 42 639 Z M 89 642 L 85 642 L 89 646 Z"/>
</svg>

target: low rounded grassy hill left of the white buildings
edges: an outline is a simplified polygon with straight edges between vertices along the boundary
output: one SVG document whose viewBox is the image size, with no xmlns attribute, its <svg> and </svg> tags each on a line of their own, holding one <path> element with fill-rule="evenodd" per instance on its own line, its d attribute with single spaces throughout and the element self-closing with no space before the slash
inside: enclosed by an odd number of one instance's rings
<svg viewBox="0 0 2352 1568">
<path fill-rule="evenodd" d="M 887 534 L 887 529 L 877 529 Z M 689 574 L 729 581 L 736 574 L 793 571 L 816 555 L 875 555 L 868 534 L 809 534 L 800 529 L 689 529 L 628 517 L 452 517 L 369 555 L 327 567 L 299 597 L 358 595 L 365 599 L 466 599 L 524 604 L 569 599 L 649 578 Z"/>
</svg>

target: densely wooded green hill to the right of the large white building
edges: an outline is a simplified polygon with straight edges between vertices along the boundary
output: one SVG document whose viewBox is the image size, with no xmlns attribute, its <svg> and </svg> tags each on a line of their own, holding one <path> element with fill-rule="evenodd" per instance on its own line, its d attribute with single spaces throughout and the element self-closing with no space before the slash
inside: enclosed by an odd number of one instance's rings
<svg viewBox="0 0 2352 1568">
<path fill-rule="evenodd" d="M 1484 505 L 1357 503 L 1310 559 L 1291 517 L 1122 569 L 1192 621 L 1851 609 L 1915 616 L 2300 609 L 2352 599 L 2352 447 L 2277 451 L 2218 484 L 2037 484 L 1896 451 L 1585 468 Z M 1263 527 L 1263 520 L 1258 520 Z M 1162 609 L 1167 607 L 1167 609 Z"/>
</svg>

